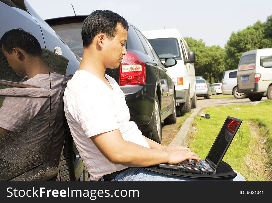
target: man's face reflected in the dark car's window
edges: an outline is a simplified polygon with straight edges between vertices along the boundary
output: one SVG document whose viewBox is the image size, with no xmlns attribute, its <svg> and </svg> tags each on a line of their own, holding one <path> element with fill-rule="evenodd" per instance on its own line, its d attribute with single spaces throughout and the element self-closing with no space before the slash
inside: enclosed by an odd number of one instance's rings
<svg viewBox="0 0 272 203">
<path fill-rule="evenodd" d="M 19 75 L 19 76 L 25 76 L 24 71 L 21 69 L 20 67 L 20 60 L 18 59 L 18 53 L 16 53 L 14 50 L 12 50 L 12 53 L 9 54 L 3 47 L 1 47 L 1 50 L 4 54 L 4 56 L 6 57 L 6 60 L 9 64 L 9 66 L 11 66 L 11 68 L 14 70 L 14 72 Z"/>
</svg>

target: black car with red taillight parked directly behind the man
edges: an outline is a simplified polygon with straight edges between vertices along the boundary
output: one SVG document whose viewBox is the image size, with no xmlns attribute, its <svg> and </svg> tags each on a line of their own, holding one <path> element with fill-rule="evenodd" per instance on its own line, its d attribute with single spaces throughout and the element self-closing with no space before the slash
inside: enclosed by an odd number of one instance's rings
<svg viewBox="0 0 272 203">
<path fill-rule="evenodd" d="M 88 15 L 67 16 L 45 20 L 56 33 L 80 57 L 83 54 L 81 28 Z M 176 95 L 172 78 L 166 67 L 176 64 L 174 58 L 160 61 L 155 50 L 142 32 L 129 23 L 127 55 L 117 69 L 107 69 L 122 91 L 130 109 L 131 120 L 142 133 L 156 142 L 161 142 L 162 125 L 176 123 Z M 69 74 L 74 74 L 72 71 Z"/>
</svg>

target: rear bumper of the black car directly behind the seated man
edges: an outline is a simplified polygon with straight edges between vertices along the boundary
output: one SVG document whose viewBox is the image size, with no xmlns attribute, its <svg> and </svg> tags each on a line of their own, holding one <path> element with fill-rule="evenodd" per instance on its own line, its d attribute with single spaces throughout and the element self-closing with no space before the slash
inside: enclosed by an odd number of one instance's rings
<svg viewBox="0 0 272 203">
<path fill-rule="evenodd" d="M 155 85 L 125 85 L 120 88 L 130 109 L 130 120 L 134 121 L 141 131 L 151 131 L 154 128 Z"/>
</svg>

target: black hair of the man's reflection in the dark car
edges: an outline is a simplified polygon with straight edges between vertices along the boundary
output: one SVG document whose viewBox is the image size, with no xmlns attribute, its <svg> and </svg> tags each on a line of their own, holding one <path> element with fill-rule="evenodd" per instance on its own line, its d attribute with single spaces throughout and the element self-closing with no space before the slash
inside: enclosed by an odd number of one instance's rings
<svg viewBox="0 0 272 203">
<path fill-rule="evenodd" d="M 13 29 L 7 31 L 0 39 L 0 48 L 11 54 L 14 47 L 23 49 L 32 56 L 42 57 L 42 51 L 39 41 L 29 32 L 23 29 Z"/>
</svg>

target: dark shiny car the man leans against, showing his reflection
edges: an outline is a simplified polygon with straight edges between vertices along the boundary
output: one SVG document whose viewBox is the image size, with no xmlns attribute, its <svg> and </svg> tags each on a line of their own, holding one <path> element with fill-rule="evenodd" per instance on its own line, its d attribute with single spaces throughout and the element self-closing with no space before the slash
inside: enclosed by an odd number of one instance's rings
<svg viewBox="0 0 272 203">
<path fill-rule="evenodd" d="M 27 1 L 1 0 L 0 27 L 0 181 L 83 180 L 63 109 L 79 56 Z"/>
</svg>

